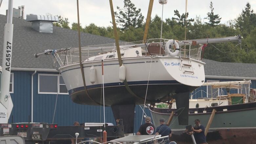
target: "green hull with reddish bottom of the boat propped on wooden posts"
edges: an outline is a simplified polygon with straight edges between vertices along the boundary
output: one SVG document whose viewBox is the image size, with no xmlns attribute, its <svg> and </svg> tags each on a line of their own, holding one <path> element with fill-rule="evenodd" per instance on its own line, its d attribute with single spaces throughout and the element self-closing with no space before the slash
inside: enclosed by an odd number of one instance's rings
<svg viewBox="0 0 256 144">
<path fill-rule="evenodd" d="M 190 109 L 189 125 L 195 125 L 194 120 L 200 119 L 201 124 L 206 127 L 213 109 L 216 109 L 217 112 L 206 136 L 209 144 L 256 144 L 256 103 Z M 151 108 L 150 111 L 155 126 L 160 125 L 160 118 L 163 117 L 167 120 L 171 113 L 171 110 L 159 108 Z M 191 136 L 185 133 L 185 126 L 178 124 L 177 114 L 174 115 L 170 128 L 173 141 L 179 144 L 193 143 Z"/>
</svg>

